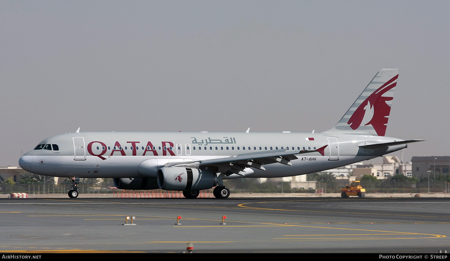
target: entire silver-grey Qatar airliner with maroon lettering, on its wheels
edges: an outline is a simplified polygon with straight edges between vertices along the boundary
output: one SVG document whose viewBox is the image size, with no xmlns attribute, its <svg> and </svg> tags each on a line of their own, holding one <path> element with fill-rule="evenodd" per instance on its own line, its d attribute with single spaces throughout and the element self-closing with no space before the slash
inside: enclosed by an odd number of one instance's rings
<svg viewBox="0 0 450 261">
<path fill-rule="evenodd" d="M 321 133 L 79 132 L 56 135 L 25 153 L 26 171 L 72 181 L 112 178 L 119 189 L 166 189 L 196 198 L 223 180 L 274 178 L 329 170 L 406 148 L 421 140 L 385 137 L 398 69 L 382 69 L 342 119 Z"/>
</svg>

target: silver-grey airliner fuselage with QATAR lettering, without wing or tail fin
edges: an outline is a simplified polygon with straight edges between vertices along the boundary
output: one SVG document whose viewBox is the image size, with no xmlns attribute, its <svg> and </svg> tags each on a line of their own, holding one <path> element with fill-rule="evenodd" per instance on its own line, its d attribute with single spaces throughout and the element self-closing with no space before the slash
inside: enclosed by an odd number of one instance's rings
<svg viewBox="0 0 450 261">
<path fill-rule="evenodd" d="M 362 149 L 360 144 L 401 141 L 372 135 L 324 135 L 321 133 L 144 133 L 81 132 L 56 135 L 40 144 L 56 144 L 58 150 L 34 149 L 21 157 L 19 164 L 32 173 L 80 178 L 156 178 L 139 173 L 139 164 L 157 159 L 160 167 L 169 162 L 189 162 L 213 158 L 324 148 L 324 155 L 311 152 L 297 155 L 292 165 L 268 164 L 266 171 L 247 168 L 245 176 L 285 177 L 324 171 L 364 161 L 402 148 Z M 141 171 L 142 172 L 142 171 Z M 224 177 L 237 178 L 239 175 Z"/>
</svg>

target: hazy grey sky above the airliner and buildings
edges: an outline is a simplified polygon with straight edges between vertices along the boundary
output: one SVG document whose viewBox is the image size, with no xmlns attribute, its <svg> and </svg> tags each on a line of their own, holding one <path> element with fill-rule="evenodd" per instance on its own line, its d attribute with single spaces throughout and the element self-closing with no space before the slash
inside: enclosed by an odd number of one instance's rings
<svg viewBox="0 0 450 261">
<path fill-rule="evenodd" d="M 450 1 L 0 0 L 0 166 L 81 131 L 320 132 L 400 68 L 387 136 L 450 155 Z M 395 153 L 392 155 L 400 155 Z"/>
</svg>

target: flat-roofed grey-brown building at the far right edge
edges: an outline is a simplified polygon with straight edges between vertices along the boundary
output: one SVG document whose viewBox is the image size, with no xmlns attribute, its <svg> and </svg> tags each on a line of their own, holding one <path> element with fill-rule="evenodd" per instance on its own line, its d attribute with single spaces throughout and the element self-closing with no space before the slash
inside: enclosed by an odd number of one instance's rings
<svg viewBox="0 0 450 261">
<path fill-rule="evenodd" d="M 414 177 L 426 177 L 428 171 L 430 171 L 430 176 L 433 177 L 436 174 L 449 174 L 450 156 L 413 157 L 411 162 Z"/>
</svg>

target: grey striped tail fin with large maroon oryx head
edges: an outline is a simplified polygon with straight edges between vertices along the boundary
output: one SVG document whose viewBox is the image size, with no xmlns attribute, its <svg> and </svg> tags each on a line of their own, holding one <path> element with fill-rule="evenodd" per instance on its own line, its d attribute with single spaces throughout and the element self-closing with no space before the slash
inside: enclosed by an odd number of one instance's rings
<svg viewBox="0 0 450 261">
<path fill-rule="evenodd" d="M 381 69 L 329 134 L 384 136 L 399 69 Z"/>
</svg>

